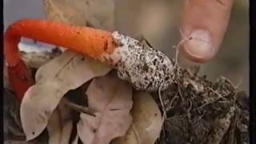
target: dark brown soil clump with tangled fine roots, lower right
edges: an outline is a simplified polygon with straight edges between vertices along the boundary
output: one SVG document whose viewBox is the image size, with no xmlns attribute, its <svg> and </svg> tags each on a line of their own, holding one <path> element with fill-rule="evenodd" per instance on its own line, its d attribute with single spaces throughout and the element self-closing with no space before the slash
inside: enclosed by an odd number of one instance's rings
<svg viewBox="0 0 256 144">
<path fill-rule="evenodd" d="M 158 144 L 249 143 L 249 102 L 226 78 L 206 77 L 178 69 L 162 91 L 166 120 Z M 158 94 L 154 98 L 160 105 Z M 246 100 L 247 99 L 247 100 Z"/>
</svg>

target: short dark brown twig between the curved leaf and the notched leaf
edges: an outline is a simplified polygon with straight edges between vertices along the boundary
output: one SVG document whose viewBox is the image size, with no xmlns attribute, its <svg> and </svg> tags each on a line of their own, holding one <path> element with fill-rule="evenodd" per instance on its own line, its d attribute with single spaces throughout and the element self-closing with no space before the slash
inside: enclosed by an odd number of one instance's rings
<svg viewBox="0 0 256 144">
<path fill-rule="evenodd" d="M 85 107 L 85 106 L 79 106 L 79 105 L 77 105 L 77 104 L 75 104 L 73 102 L 68 101 L 66 98 L 63 98 L 62 100 L 63 100 L 63 103 L 66 106 L 70 107 L 70 109 L 73 109 L 73 110 L 76 110 L 76 111 L 78 111 L 80 113 L 89 114 L 91 116 L 96 117 L 96 115 L 94 114 L 95 113 L 94 110 L 91 110 L 90 108 Z"/>
</svg>

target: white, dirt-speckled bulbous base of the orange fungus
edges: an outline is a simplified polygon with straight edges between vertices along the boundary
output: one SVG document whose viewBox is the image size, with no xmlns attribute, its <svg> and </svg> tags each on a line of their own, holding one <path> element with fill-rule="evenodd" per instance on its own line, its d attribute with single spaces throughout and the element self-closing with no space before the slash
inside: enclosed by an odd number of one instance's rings
<svg viewBox="0 0 256 144">
<path fill-rule="evenodd" d="M 173 63 L 159 50 L 146 47 L 134 38 L 115 31 L 112 36 L 119 47 L 102 55 L 118 71 L 118 77 L 131 82 L 136 90 L 165 90 L 170 86 Z"/>
</svg>

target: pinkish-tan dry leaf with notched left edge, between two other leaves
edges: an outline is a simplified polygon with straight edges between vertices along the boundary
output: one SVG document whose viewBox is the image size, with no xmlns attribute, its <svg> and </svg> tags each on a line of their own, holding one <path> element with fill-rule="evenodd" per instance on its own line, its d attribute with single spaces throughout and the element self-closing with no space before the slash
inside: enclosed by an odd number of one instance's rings
<svg viewBox="0 0 256 144">
<path fill-rule="evenodd" d="M 84 144 L 108 144 L 113 138 L 126 134 L 132 117 L 130 85 L 110 75 L 94 78 L 88 90 L 89 107 L 97 110 L 96 117 L 81 114 L 78 136 Z"/>
</svg>

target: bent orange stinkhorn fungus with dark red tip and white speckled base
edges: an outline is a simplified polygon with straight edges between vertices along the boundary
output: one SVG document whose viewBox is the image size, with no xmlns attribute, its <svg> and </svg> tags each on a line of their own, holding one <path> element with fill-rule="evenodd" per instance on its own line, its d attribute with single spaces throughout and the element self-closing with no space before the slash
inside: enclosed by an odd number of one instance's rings
<svg viewBox="0 0 256 144">
<path fill-rule="evenodd" d="M 160 86 L 165 90 L 170 86 L 173 63 L 159 50 L 147 48 L 134 38 L 90 27 L 23 19 L 9 26 L 4 37 L 9 80 L 19 100 L 34 84 L 19 54 L 21 37 L 63 46 L 112 66 L 119 78 L 131 82 L 137 90 L 158 90 Z"/>
</svg>

